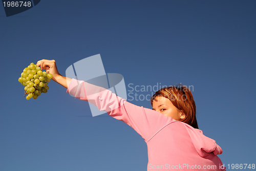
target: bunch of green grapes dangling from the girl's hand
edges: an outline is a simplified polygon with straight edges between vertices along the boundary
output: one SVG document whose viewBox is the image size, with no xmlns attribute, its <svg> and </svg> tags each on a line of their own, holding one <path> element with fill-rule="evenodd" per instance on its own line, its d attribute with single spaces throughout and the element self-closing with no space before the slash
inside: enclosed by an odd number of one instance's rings
<svg viewBox="0 0 256 171">
<path fill-rule="evenodd" d="M 26 99 L 30 98 L 37 99 L 41 93 L 47 93 L 49 90 L 48 82 L 52 79 L 52 74 L 47 74 L 45 71 L 42 72 L 40 67 L 30 63 L 30 65 L 23 70 L 21 77 L 18 81 L 25 86 Z"/>
</svg>

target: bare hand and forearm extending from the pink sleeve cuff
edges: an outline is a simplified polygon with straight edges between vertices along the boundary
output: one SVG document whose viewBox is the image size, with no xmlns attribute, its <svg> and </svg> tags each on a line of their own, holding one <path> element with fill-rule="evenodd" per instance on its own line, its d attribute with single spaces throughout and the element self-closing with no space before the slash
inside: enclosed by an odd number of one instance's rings
<svg viewBox="0 0 256 171">
<path fill-rule="evenodd" d="M 41 67 L 41 70 L 46 70 L 47 74 L 51 73 L 53 76 L 52 80 L 59 83 L 61 86 L 65 87 L 66 89 L 68 89 L 71 78 L 64 77 L 59 74 L 55 60 L 42 59 L 37 61 L 36 65 L 38 67 Z"/>
</svg>

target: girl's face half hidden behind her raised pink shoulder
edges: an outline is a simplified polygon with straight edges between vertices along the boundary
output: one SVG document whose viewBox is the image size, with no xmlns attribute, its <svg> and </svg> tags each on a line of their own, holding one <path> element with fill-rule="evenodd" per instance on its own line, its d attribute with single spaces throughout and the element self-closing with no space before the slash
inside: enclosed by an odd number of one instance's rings
<svg viewBox="0 0 256 171">
<path fill-rule="evenodd" d="M 160 112 L 164 116 L 171 117 L 178 121 L 185 119 L 183 111 L 178 110 L 169 99 L 158 96 L 156 97 L 156 100 L 153 100 L 152 110 Z"/>
</svg>

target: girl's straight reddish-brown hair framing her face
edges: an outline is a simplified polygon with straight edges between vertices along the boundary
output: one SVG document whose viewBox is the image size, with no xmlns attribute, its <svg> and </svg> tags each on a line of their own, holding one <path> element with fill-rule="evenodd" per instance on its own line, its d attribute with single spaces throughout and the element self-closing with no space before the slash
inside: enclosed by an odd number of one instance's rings
<svg viewBox="0 0 256 171">
<path fill-rule="evenodd" d="M 198 129 L 196 103 L 192 93 L 186 86 L 178 84 L 177 86 L 170 86 L 158 90 L 151 97 L 151 105 L 153 105 L 154 100 L 157 101 L 157 96 L 168 98 L 178 110 L 184 112 L 185 118 L 181 121 L 193 126 L 195 129 Z"/>
</svg>

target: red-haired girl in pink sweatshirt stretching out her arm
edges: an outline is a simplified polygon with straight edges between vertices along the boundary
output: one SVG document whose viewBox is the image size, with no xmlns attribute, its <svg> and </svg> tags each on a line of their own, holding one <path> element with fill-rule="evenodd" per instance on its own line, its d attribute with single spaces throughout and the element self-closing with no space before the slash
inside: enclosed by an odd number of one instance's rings
<svg viewBox="0 0 256 171">
<path fill-rule="evenodd" d="M 51 73 L 52 80 L 67 88 L 68 93 L 133 127 L 147 144 L 147 170 L 225 170 L 217 156 L 222 154 L 221 147 L 198 129 L 196 105 L 185 86 L 157 91 L 151 98 L 151 110 L 104 88 L 61 76 L 55 60 L 42 59 L 37 66 Z"/>
</svg>

